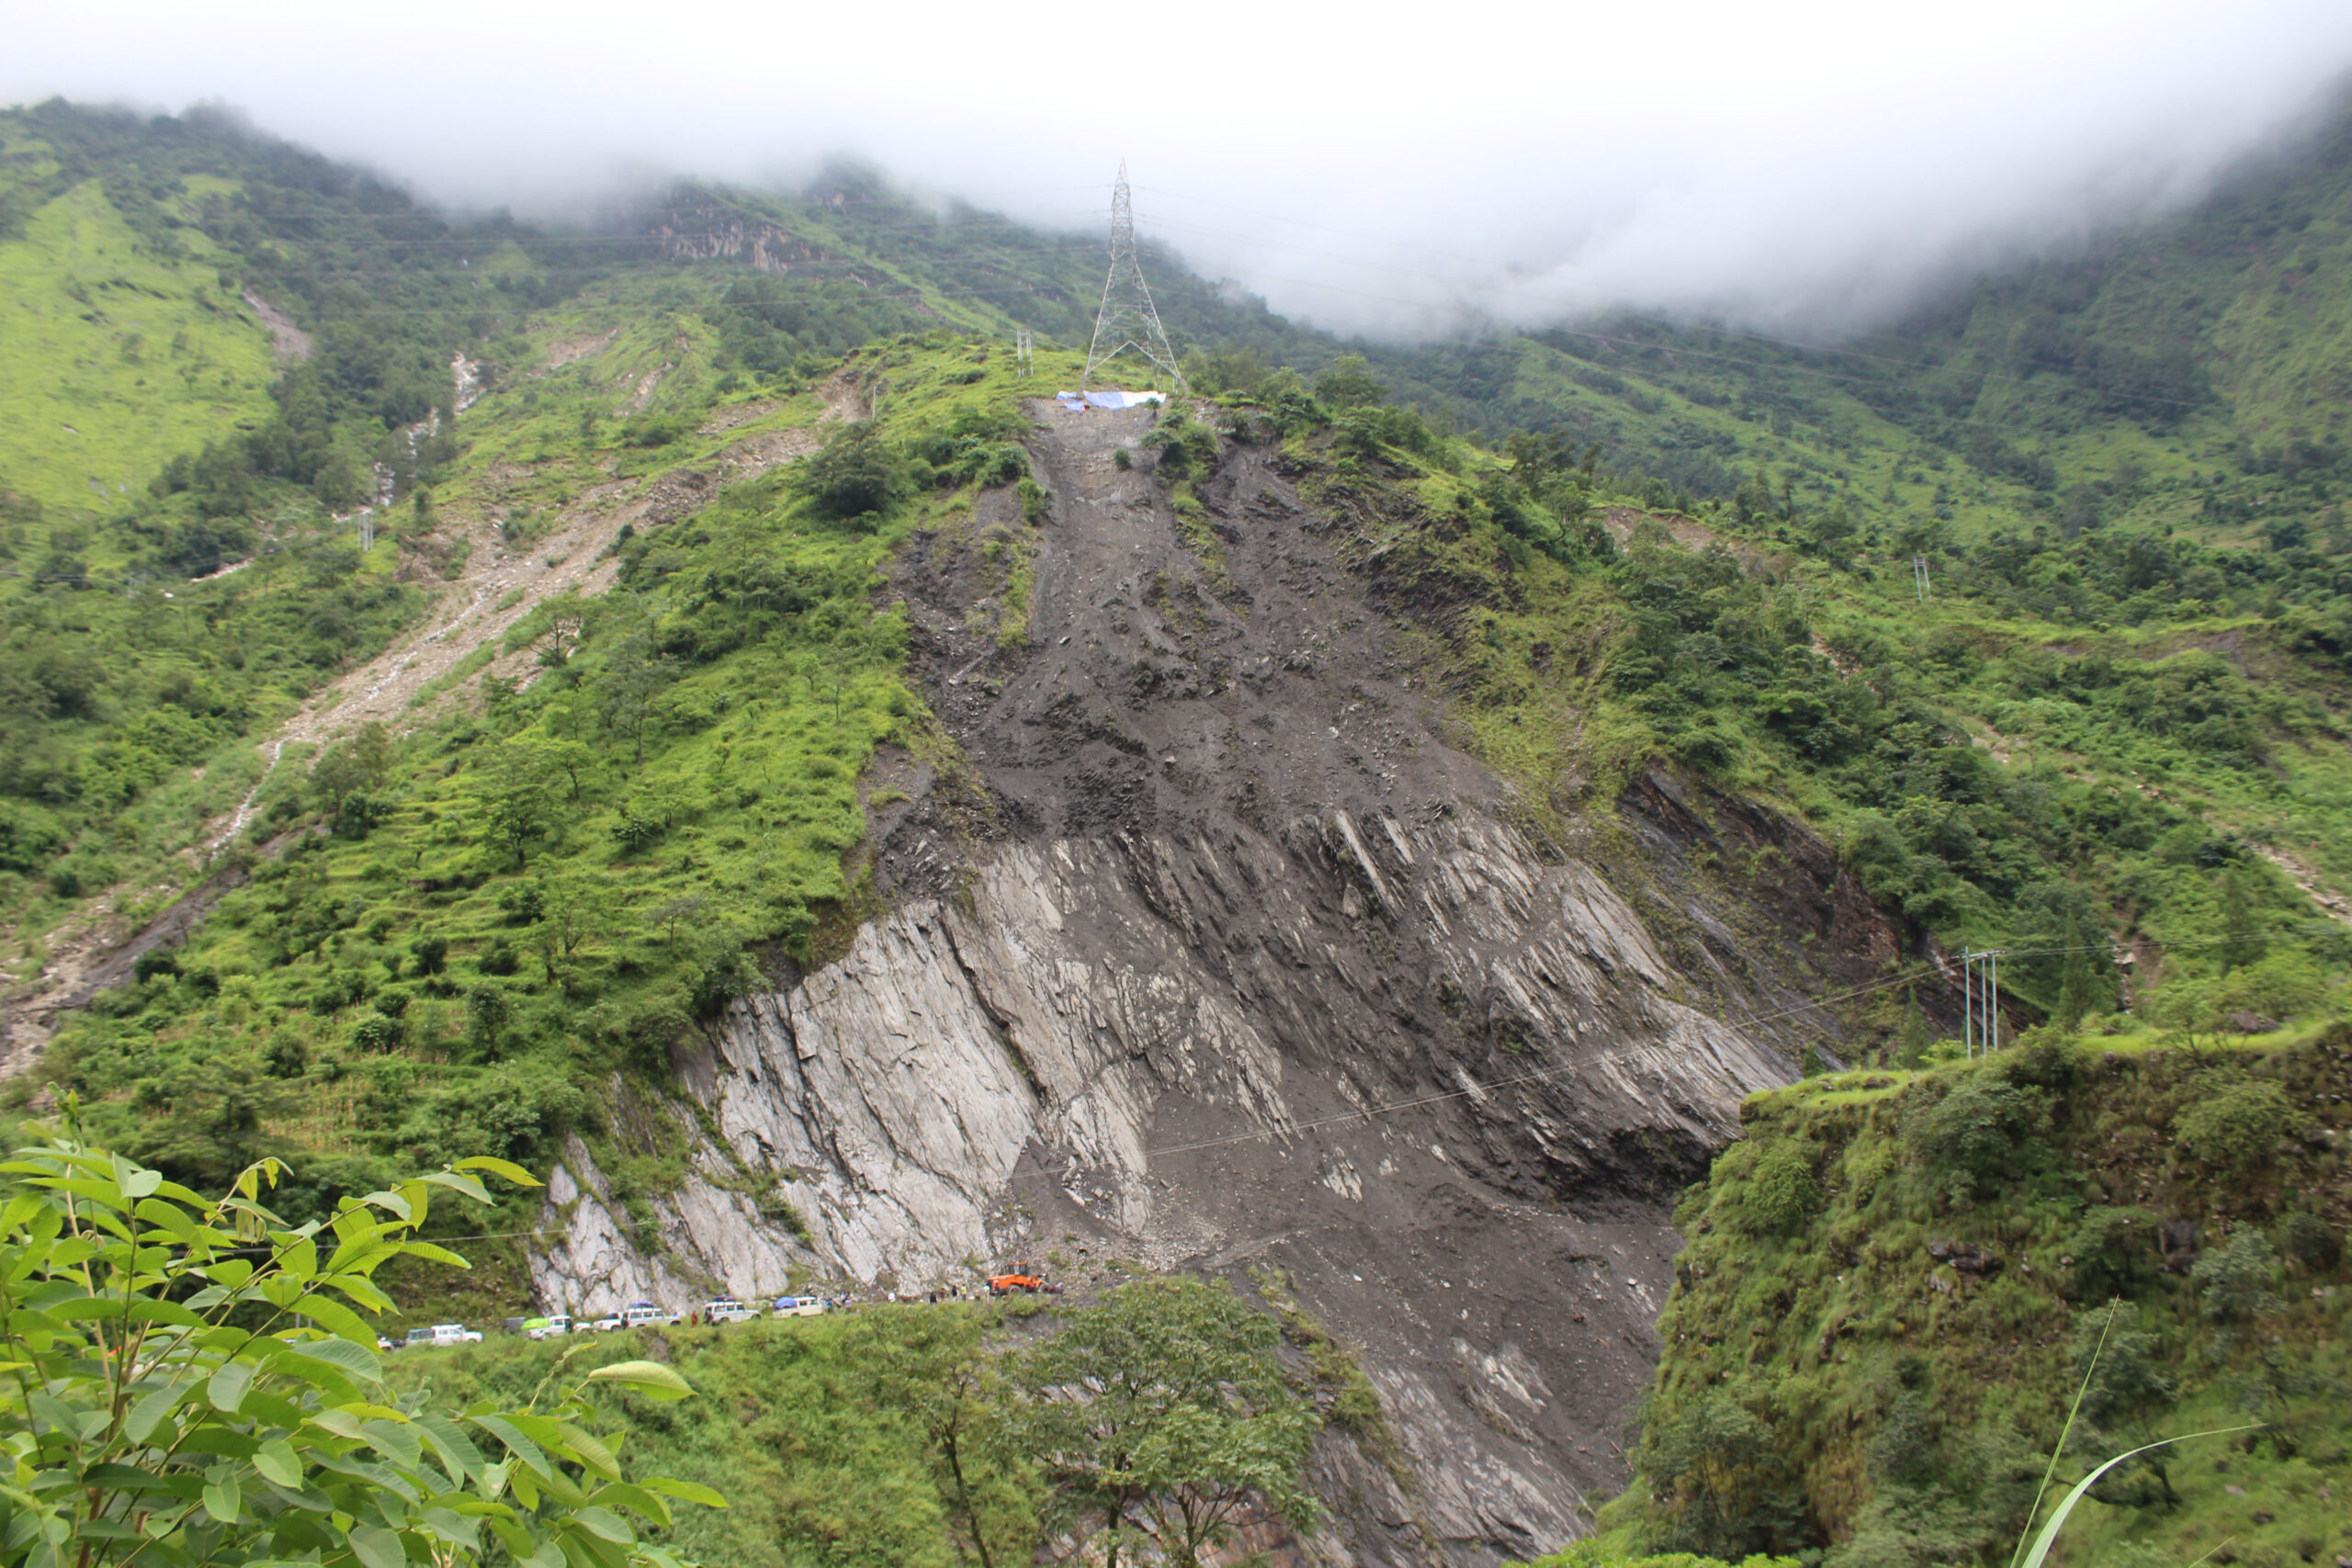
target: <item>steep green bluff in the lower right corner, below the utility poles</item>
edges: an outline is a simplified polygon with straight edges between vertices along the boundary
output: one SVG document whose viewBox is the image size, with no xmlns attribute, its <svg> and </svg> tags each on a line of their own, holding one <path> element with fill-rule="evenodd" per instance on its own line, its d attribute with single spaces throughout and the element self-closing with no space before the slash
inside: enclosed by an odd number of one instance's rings
<svg viewBox="0 0 2352 1568">
<path fill-rule="evenodd" d="M 2112 1472 L 2058 1561 L 2317 1561 L 2345 1420 L 2352 1030 L 2277 1051 L 2098 1051 L 1813 1079 L 1677 1211 L 1635 1488 L 1611 1542 L 1828 1563 L 2006 1556 L 2060 1474 Z M 2093 1363 L 2096 1361 L 2096 1363 Z"/>
</svg>

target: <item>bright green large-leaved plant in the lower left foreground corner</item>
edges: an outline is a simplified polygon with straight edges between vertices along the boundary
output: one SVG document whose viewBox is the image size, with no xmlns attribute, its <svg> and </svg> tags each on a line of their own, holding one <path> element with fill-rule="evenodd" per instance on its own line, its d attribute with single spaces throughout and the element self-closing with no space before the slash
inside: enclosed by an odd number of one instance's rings
<svg viewBox="0 0 2352 1568">
<path fill-rule="evenodd" d="M 421 1241 L 435 1190 L 489 1201 L 468 1159 L 287 1227 L 261 1204 L 285 1166 L 205 1199 L 75 1138 L 0 1166 L 0 1563 L 322 1563 L 463 1568 L 503 1547 L 532 1568 L 675 1568 L 640 1540 L 680 1481 L 628 1483 L 590 1432 L 600 1382 L 684 1399 L 668 1366 L 623 1361 L 522 1408 L 390 1401 L 362 1319 Z M 583 1352 L 590 1347 L 581 1347 Z M 572 1356 L 564 1361 L 569 1363 Z M 635 1516 L 635 1521 L 630 1519 Z"/>
</svg>

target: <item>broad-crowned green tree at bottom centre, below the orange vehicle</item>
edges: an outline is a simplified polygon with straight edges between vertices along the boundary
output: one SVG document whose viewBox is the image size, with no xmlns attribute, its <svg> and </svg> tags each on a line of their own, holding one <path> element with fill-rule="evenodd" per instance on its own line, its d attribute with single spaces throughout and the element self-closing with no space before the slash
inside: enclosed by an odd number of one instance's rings
<svg viewBox="0 0 2352 1568">
<path fill-rule="evenodd" d="M 1103 1509 L 1103 1568 L 1145 1537 L 1197 1568 L 1251 1497 L 1312 1526 L 1317 1415 L 1282 1375 L 1277 1340 L 1275 1321 L 1221 1284 L 1138 1279 L 1028 1354 L 1040 1462 Z"/>
</svg>

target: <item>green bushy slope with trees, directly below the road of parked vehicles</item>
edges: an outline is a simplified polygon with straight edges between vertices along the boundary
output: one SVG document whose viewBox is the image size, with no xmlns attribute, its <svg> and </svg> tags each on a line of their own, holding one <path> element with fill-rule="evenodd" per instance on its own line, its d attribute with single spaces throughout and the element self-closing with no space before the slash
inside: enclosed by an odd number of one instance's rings
<svg viewBox="0 0 2352 1568">
<path fill-rule="evenodd" d="M 1007 1566 L 1082 1526 L 1105 1563 L 1157 1540 L 1152 1559 L 1195 1568 L 1244 1502 L 1317 1516 L 1303 1469 L 1322 1368 L 1287 1371 L 1277 1333 L 1190 1279 L 1138 1279 L 1058 1316 L 943 1302 L 637 1331 L 630 1349 L 701 1399 L 623 1399 L 626 1450 L 727 1493 L 724 1514 L 677 1519 L 670 1544 L 694 1561 Z M 567 1354 L 581 1352 L 503 1340 L 405 1354 L 390 1378 L 508 1401 Z"/>
</svg>

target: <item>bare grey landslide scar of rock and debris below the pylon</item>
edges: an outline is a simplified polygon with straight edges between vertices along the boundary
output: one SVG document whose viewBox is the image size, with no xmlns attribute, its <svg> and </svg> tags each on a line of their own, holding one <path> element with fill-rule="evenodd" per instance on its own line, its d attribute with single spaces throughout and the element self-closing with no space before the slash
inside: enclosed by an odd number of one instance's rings
<svg viewBox="0 0 2352 1568">
<path fill-rule="evenodd" d="M 901 583 L 1000 830 L 950 835 L 934 797 L 889 825 L 898 907 L 684 1063 L 699 1180 L 656 1201 L 659 1246 L 626 1244 L 576 1147 L 541 1291 L 595 1309 L 809 1276 L 924 1288 L 1061 1239 L 1279 1267 L 1367 1347 L 1414 1474 L 1322 1443 L 1345 1507 L 1319 1544 L 1557 1547 L 1585 1488 L 1623 1479 L 1677 1246 L 1663 1208 L 1740 1098 L 1790 1077 L 1792 1039 L 1740 1020 L 1809 976 L 1736 936 L 1682 860 L 1708 806 L 1672 780 L 1630 802 L 1644 849 L 1606 875 L 1512 827 L 1329 524 L 1258 456 L 1209 487 L 1235 527 L 1204 562 L 1148 475 L 1110 463 L 1148 416 L 1040 418 L 1056 505 L 1033 651 L 957 679 L 988 644 L 955 541 Z M 1785 936 L 1865 961 L 1884 933 L 1835 856 L 1776 865 Z M 1675 912 L 1672 943 L 1630 896 Z"/>
</svg>

